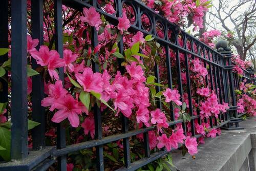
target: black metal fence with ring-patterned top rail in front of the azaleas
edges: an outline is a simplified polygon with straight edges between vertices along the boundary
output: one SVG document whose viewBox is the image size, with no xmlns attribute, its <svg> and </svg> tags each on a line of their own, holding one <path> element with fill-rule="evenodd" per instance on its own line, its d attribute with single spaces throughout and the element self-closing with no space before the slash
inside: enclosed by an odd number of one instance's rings
<svg viewBox="0 0 256 171">
<path fill-rule="evenodd" d="M 32 37 L 39 39 L 39 45 L 43 45 L 43 0 L 31 0 L 32 8 Z M 68 7 L 74 8 L 78 11 L 82 11 L 84 7 L 95 7 L 96 11 L 103 14 L 112 25 L 118 24 L 117 17 L 122 15 L 123 4 L 129 4 L 133 7 L 136 20 L 130 27 L 130 32 L 141 31 L 144 35 L 151 34 L 159 42 L 161 46 L 166 49 L 166 67 L 167 67 L 167 79 L 168 87 L 172 89 L 172 72 L 174 72 L 170 66 L 170 54 L 169 49 L 172 49 L 176 55 L 176 65 L 178 73 L 178 90 L 182 95 L 182 80 L 181 80 L 181 66 L 180 66 L 180 53 L 185 57 L 185 71 L 186 71 L 186 87 L 189 103 L 189 114 L 191 116 L 191 133 L 192 136 L 200 137 L 195 133 L 194 120 L 198 120 L 198 123 L 204 122 L 200 119 L 199 115 L 193 115 L 193 104 L 190 90 L 190 78 L 189 78 L 189 65 L 188 55 L 191 55 L 193 59 L 200 59 L 203 61 L 204 66 L 208 66 L 208 75 L 206 75 L 206 86 L 218 96 L 220 103 L 226 102 L 229 104 L 229 110 L 225 114 L 221 114 L 218 119 L 221 120 L 221 124 L 217 123 L 217 118 L 210 117 L 211 127 L 225 127 L 226 129 L 240 129 L 238 118 L 236 96 L 234 95 L 234 88 L 238 88 L 241 78 L 233 76 L 232 64 L 230 60 L 231 52 L 218 53 L 216 50 L 211 49 L 203 42 L 187 34 L 183 30 L 180 30 L 176 25 L 168 22 L 161 15 L 155 13 L 152 9 L 146 7 L 142 2 L 138 0 L 125 1 L 116 0 L 116 14 L 108 14 L 104 12 L 97 1 L 81 1 L 81 0 L 54 0 L 54 27 L 55 27 L 55 49 L 63 57 L 63 45 L 62 45 L 62 4 Z M 0 48 L 8 48 L 8 0 L 3 0 L 0 6 Z M 146 31 L 141 22 L 141 16 L 145 14 L 150 19 L 151 29 Z M 157 35 L 156 24 L 161 23 L 164 36 L 161 38 Z M 167 34 L 169 30 L 172 30 L 172 38 Z M 158 151 L 151 154 L 148 144 L 148 131 L 154 130 L 154 127 L 147 127 L 136 131 L 129 131 L 128 120 L 126 117 L 122 117 L 122 134 L 113 135 L 109 137 L 102 137 L 101 126 L 101 113 L 98 108 L 94 108 L 95 118 L 95 140 L 82 142 L 74 145 L 66 146 L 65 128 L 59 123 L 57 126 L 57 146 L 45 146 L 45 109 L 41 106 L 41 100 L 44 95 L 44 81 L 41 75 L 32 77 L 32 119 L 40 122 L 40 125 L 35 127 L 32 131 L 33 139 L 33 151 L 28 150 L 28 104 L 27 104 L 27 1 L 26 0 L 12 0 L 11 1 L 11 158 L 17 161 L 0 164 L 0 170 L 45 170 L 54 162 L 57 161 L 58 170 L 66 170 L 66 155 L 79 151 L 84 148 L 96 147 L 97 154 L 97 170 L 104 170 L 103 161 L 103 145 L 109 142 L 114 142 L 123 139 L 123 154 L 124 165 L 119 170 L 135 170 L 147 163 L 150 163 L 165 154 L 165 150 Z M 92 29 L 92 45 L 97 46 L 98 33 L 95 28 Z M 184 43 L 184 46 L 179 45 L 178 37 L 183 38 L 183 42 L 189 41 L 191 46 L 189 49 Z M 38 48 L 38 47 L 37 47 Z M 119 42 L 119 49 L 122 53 L 123 42 L 122 39 Z M 5 61 L 8 57 L 0 58 L 1 62 Z M 35 60 L 33 62 L 33 69 L 37 67 Z M 98 66 L 96 63 L 93 65 L 94 72 L 98 72 Z M 244 78 L 248 82 L 252 81 L 250 73 L 244 71 Z M 159 82 L 159 68 L 155 66 L 155 76 Z M 59 70 L 59 77 L 63 80 L 63 69 Z M 2 81 L 4 82 L 4 81 Z M 3 92 L 1 94 L 1 102 L 8 100 L 8 84 L 3 84 Z M 156 92 L 160 91 L 160 87 L 156 86 Z M 158 108 L 161 109 L 161 102 L 158 102 Z M 169 125 L 175 125 L 177 123 L 183 123 L 182 119 L 175 120 L 174 113 L 171 113 L 170 118 L 172 122 Z M 183 128 L 185 130 L 185 123 Z M 131 163 L 130 157 L 130 144 L 129 137 L 143 133 L 144 136 L 144 158 Z"/>
</svg>

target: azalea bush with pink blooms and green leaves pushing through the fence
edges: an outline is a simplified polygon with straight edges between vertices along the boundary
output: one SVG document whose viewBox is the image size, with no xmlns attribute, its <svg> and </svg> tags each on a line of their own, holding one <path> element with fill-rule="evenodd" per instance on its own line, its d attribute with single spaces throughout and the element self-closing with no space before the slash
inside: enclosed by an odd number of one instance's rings
<svg viewBox="0 0 256 171">
<path fill-rule="evenodd" d="M 98 1 L 102 10 L 115 14 L 114 1 Z M 197 1 L 143 1 L 145 5 L 166 17 L 175 24 L 184 24 L 184 17 L 190 16 L 195 27 L 202 27 L 204 12 L 210 7 L 210 2 Z M 28 18 L 31 4 L 28 1 Z M 221 134 L 220 129 L 210 126 L 211 122 L 220 123 L 219 115 L 229 108 L 227 103 L 220 103 L 214 87 L 207 84 L 210 66 L 200 58 L 188 54 L 188 68 L 185 67 L 185 54 L 179 53 L 181 75 L 177 72 L 176 51 L 165 49 L 151 35 L 143 35 L 138 31 L 129 32 L 135 20 L 132 6 L 124 4 L 122 16 L 118 17 L 117 26 L 96 12 L 95 8 L 84 8 L 78 12 L 66 6 L 63 9 L 63 58 L 54 50 L 53 2 L 45 1 L 44 9 L 44 45 L 38 46 L 38 39 L 31 37 L 30 19 L 28 19 L 28 117 L 31 118 L 32 80 L 31 77 L 41 74 L 44 78 L 44 93 L 41 105 L 46 109 L 46 143 L 56 145 L 56 123 L 62 122 L 66 129 L 67 144 L 75 144 L 95 139 L 94 108 L 98 106 L 102 117 L 103 137 L 121 133 L 121 116 L 129 120 L 129 130 L 143 127 L 154 127 L 148 132 L 150 150 L 182 148 L 183 153 L 190 155 L 198 153 L 198 143 L 204 143 L 205 137 L 215 138 Z M 151 25 L 145 16 L 142 19 L 143 28 Z M 92 45 L 92 32 L 98 33 L 98 45 Z M 161 37 L 161 27 L 157 29 Z M 172 34 L 170 33 L 170 36 Z M 202 41 L 212 44 L 211 37 L 219 36 L 218 31 L 205 33 Z M 11 35 L 10 35 L 11 37 Z M 10 41 L 10 40 L 9 40 Z M 123 41 L 123 49 L 118 45 Z M 196 44 L 184 42 L 178 37 L 179 46 L 186 44 L 196 53 L 203 52 Z M 36 47 L 38 47 L 36 49 Z M 173 74 L 173 87 L 168 87 L 166 72 L 166 51 L 170 54 L 170 65 Z M 7 53 L 8 50 L 5 52 Z M 0 55 L 2 55 L 0 53 Z M 10 81 L 10 58 L 0 66 L 1 77 Z M 211 54 L 206 58 L 212 59 Z M 31 61 L 35 60 L 38 67 L 33 70 Z M 99 66 L 99 72 L 94 72 L 93 65 Z M 155 65 L 159 66 L 160 81 L 156 79 Z M 59 68 L 63 68 L 64 78 L 59 77 Z M 199 115 L 194 120 L 195 132 L 200 138 L 192 136 L 191 116 L 189 115 L 189 99 L 187 92 L 187 76 L 191 84 L 191 105 L 193 115 Z M 183 94 L 179 92 L 178 79 L 181 78 Z M 160 91 L 156 91 L 160 88 Z M 254 91 L 255 92 L 255 91 Z M 9 96 L 11 92 L 9 90 Z M 244 103 L 251 103 L 249 96 L 242 95 Z M 255 96 L 254 96 L 255 97 Z M 8 101 L 7 101 L 8 103 Z M 0 105 L 0 129 L 5 127 L 9 135 L 10 119 L 9 103 Z M 255 105 L 255 102 L 253 102 Z M 160 108 L 159 104 L 162 105 Z M 245 107 L 246 108 L 246 107 Z M 255 108 L 254 108 L 255 109 Z M 171 114 L 175 118 L 171 118 Z M 8 115 L 9 114 L 9 115 Z M 169 126 L 169 123 L 182 119 L 184 124 Z M 30 122 L 32 129 L 39 123 Z M 6 126 L 7 125 L 7 126 Z M 186 132 L 184 131 L 186 130 Z M 186 134 L 185 134 L 186 133 Z M 136 161 L 144 156 L 143 134 L 130 137 L 131 160 Z M 8 140 L 9 142 L 9 140 Z M 29 133 L 29 147 L 32 147 Z M 114 170 L 123 165 L 122 140 L 108 143 L 104 148 L 104 167 Z M 96 149 L 83 149 L 68 155 L 68 170 L 93 169 L 96 165 Z M 0 156 L 10 160 L 10 146 L 0 140 Z M 7 155 L 4 156 L 4 155 Z M 146 169 L 166 167 L 163 161 L 172 165 L 172 159 L 159 159 L 156 165 L 149 164 Z M 159 164 L 160 163 L 160 164 Z M 54 170 L 54 166 L 52 167 Z M 168 169 L 168 167 L 166 167 Z"/>
</svg>

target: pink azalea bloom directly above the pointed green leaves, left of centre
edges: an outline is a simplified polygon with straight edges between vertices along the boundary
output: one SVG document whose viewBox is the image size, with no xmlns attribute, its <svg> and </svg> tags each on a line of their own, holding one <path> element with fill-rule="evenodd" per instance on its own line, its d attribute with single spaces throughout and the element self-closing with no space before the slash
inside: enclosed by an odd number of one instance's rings
<svg viewBox="0 0 256 171">
<path fill-rule="evenodd" d="M 75 74 L 77 81 L 83 87 L 86 92 L 95 91 L 97 93 L 102 92 L 102 78 L 100 73 L 93 73 L 91 68 L 84 68 L 83 73 Z"/>
</svg>

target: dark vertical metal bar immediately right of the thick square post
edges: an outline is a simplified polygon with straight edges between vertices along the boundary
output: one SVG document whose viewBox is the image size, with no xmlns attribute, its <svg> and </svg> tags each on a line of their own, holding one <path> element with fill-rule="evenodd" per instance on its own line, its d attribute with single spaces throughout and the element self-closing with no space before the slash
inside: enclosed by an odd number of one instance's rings
<svg viewBox="0 0 256 171">
<path fill-rule="evenodd" d="M 44 45 L 44 25 L 43 25 L 44 0 L 31 1 L 31 27 L 32 38 L 39 39 L 36 47 L 38 50 L 40 45 Z M 32 60 L 32 68 L 36 70 L 37 65 L 34 58 Z M 44 99 L 44 80 L 42 73 L 32 76 L 32 119 L 40 124 L 32 130 L 33 149 L 38 150 L 45 147 L 45 108 L 41 106 L 41 100 Z"/>
</svg>

